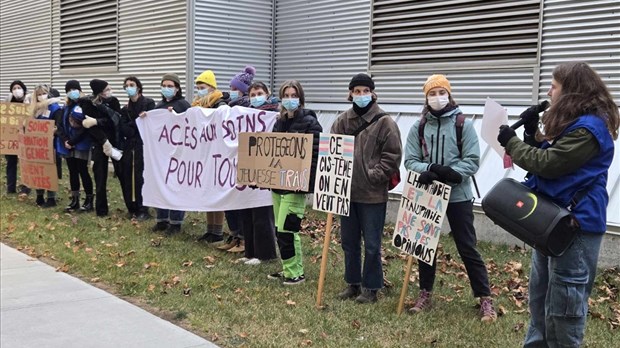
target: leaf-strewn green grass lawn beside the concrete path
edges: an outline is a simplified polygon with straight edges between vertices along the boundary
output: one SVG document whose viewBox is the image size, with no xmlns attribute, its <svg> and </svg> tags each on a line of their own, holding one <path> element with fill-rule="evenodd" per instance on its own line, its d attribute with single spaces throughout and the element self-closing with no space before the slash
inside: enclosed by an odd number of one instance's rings
<svg viewBox="0 0 620 348">
<path fill-rule="evenodd" d="M 3 159 L 4 161 L 4 159 Z M 2 178 L 4 180 L 4 166 Z M 65 168 L 65 176 L 68 176 Z M 223 347 L 519 347 L 528 323 L 527 278 L 530 253 L 480 243 L 487 262 L 499 319 L 478 318 L 463 264 L 449 236 L 442 236 L 432 311 L 396 315 L 406 260 L 384 238 L 386 280 L 391 283 L 373 305 L 339 301 L 343 255 L 338 224 L 329 253 L 325 308 L 316 293 L 325 215 L 308 209 L 302 236 L 307 281 L 284 286 L 266 275 L 279 263 L 248 266 L 240 255 L 196 241 L 205 214 L 190 213 L 181 234 L 150 231 L 154 222 L 126 218 L 118 181 L 109 178 L 110 216 L 67 214 L 68 178 L 61 180 L 59 207 L 41 209 L 34 192 L 7 196 L 2 183 L 2 242 L 102 287 Z M 417 294 L 417 267 L 407 303 Z M 620 271 L 601 270 L 591 297 L 586 346 L 618 344 Z"/>
</svg>

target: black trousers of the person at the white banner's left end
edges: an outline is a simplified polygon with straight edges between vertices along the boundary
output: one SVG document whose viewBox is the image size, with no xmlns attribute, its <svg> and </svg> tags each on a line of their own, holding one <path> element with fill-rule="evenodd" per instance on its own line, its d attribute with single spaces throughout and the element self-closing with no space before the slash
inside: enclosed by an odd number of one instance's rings
<svg viewBox="0 0 620 348">
<path fill-rule="evenodd" d="M 125 206 L 130 213 L 140 214 L 148 211 L 142 205 L 142 186 L 144 186 L 144 152 L 142 145 L 123 151 L 120 160 L 118 179 L 123 190 Z"/>
</svg>

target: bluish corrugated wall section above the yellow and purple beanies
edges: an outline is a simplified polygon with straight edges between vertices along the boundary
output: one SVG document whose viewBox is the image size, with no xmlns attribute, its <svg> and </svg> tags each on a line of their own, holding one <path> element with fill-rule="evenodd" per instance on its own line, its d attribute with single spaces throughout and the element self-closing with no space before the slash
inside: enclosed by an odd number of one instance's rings
<svg viewBox="0 0 620 348">
<path fill-rule="evenodd" d="M 194 5 L 194 76 L 188 83 L 212 70 L 218 89 L 228 91 L 233 76 L 251 65 L 254 81 L 269 86 L 273 1 L 196 0 Z"/>
</svg>

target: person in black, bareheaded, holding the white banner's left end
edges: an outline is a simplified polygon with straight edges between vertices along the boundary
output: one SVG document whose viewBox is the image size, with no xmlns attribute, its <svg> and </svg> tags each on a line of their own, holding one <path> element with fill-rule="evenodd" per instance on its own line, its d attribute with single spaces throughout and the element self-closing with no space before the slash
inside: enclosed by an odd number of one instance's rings
<svg viewBox="0 0 620 348">
<path fill-rule="evenodd" d="M 136 119 L 142 112 L 153 110 L 155 101 L 142 94 L 142 82 L 135 76 L 123 81 L 123 89 L 129 100 L 121 109 L 121 136 L 125 138 L 123 157 L 120 160 L 119 181 L 129 218 L 144 221 L 151 218 L 149 208 L 142 205 L 144 186 L 144 143 L 140 137 Z"/>
</svg>

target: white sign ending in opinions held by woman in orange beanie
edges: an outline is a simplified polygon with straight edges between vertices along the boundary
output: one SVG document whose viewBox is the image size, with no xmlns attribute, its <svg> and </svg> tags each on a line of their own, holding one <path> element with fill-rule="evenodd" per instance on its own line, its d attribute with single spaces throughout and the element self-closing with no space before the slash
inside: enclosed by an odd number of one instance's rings
<svg viewBox="0 0 620 348">
<path fill-rule="evenodd" d="M 451 187 L 438 181 L 424 185 L 418 177 L 416 172 L 407 173 L 392 245 L 432 265 Z"/>
</svg>

